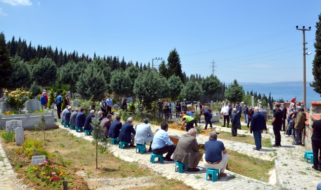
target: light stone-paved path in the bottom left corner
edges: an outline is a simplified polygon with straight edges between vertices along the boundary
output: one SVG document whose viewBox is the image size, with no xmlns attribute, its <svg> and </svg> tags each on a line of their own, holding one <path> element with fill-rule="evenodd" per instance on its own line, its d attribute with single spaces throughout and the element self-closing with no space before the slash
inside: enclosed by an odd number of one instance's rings
<svg viewBox="0 0 321 190">
<path fill-rule="evenodd" d="M 14 171 L 0 142 L 0 190 L 13 190 L 11 179 L 7 177 L 8 174 L 12 173 Z"/>
</svg>

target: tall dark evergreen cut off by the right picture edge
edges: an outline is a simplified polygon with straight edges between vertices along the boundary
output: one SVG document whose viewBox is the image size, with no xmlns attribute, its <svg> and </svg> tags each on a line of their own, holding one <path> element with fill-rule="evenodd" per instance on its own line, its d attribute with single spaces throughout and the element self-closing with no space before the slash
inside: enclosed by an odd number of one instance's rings
<svg viewBox="0 0 321 190">
<path fill-rule="evenodd" d="M 314 47 L 316 49 L 316 54 L 314 55 L 312 74 L 314 76 L 314 81 L 310 86 L 313 90 L 321 94 L 321 14 L 319 14 L 319 22 L 316 25 L 316 42 L 314 42 Z M 321 96 L 321 95 L 320 95 Z"/>
</svg>

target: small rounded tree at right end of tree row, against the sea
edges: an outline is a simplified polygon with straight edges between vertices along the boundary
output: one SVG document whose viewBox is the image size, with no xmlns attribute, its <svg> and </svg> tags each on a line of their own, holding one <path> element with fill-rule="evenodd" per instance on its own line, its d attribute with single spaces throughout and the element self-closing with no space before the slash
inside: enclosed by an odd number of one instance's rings
<svg viewBox="0 0 321 190">
<path fill-rule="evenodd" d="M 233 84 L 231 84 L 224 93 L 224 97 L 232 103 L 241 102 L 244 96 L 243 87 L 234 79 Z"/>
</svg>

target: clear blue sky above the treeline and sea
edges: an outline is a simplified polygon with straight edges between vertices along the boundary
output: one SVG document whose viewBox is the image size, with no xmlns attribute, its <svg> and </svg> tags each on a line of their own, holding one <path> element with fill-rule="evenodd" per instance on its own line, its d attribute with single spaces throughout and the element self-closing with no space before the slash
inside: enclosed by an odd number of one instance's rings
<svg viewBox="0 0 321 190">
<path fill-rule="evenodd" d="M 302 80 L 306 32 L 307 81 L 312 81 L 315 25 L 321 0 L 0 0 L 0 30 L 91 57 L 167 62 L 174 47 L 188 76 L 212 73 L 230 83 Z"/>
</svg>

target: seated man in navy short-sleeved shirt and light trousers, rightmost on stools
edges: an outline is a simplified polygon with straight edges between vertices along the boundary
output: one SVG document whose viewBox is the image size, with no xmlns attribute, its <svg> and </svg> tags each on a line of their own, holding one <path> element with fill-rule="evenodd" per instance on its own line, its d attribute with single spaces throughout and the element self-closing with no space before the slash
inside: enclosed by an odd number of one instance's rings
<svg viewBox="0 0 321 190">
<path fill-rule="evenodd" d="M 223 153 L 223 154 L 222 154 Z M 225 177 L 224 173 L 229 156 L 227 155 L 224 144 L 217 141 L 215 132 L 209 133 L 209 141 L 204 144 L 203 163 L 206 169 L 219 169 L 220 177 Z"/>
</svg>

